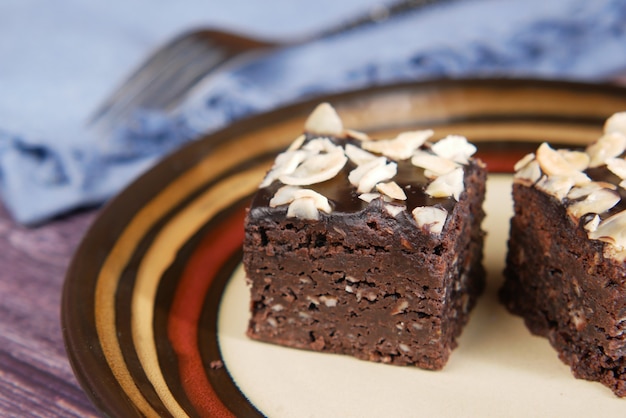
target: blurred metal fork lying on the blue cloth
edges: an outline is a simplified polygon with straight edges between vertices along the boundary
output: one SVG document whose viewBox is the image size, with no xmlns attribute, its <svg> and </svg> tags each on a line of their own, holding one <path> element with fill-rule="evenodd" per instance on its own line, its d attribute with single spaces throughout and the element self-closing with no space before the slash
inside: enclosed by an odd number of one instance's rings
<svg viewBox="0 0 626 418">
<path fill-rule="evenodd" d="M 443 0 L 400 0 L 369 10 L 352 20 L 312 36 L 271 42 L 212 30 L 184 33 L 159 48 L 97 109 L 90 126 L 111 128 L 137 109 L 167 110 L 210 74 L 254 59 L 261 53 L 327 38 Z"/>
</svg>

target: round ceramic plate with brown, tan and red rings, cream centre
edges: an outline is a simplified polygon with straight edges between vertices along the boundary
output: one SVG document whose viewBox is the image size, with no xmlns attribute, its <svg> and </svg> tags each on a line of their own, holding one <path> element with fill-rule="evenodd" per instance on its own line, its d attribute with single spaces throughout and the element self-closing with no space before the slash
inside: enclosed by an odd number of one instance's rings
<svg viewBox="0 0 626 418">
<path fill-rule="evenodd" d="M 315 104 L 374 137 L 466 135 L 491 171 L 488 287 L 445 369 L 428 372 L 248 340 L 245 207 Z M 68 270 L 62 305 L 76 375 L 113 416 L 610 416 L 623 400 L 576 380 L 497 302 L 511 179 L 541 141 L 584 145 L 626 89 L 537 80 L 433 81 L 324 97 L 185 146 L 115 198 Z"/>
</svg>

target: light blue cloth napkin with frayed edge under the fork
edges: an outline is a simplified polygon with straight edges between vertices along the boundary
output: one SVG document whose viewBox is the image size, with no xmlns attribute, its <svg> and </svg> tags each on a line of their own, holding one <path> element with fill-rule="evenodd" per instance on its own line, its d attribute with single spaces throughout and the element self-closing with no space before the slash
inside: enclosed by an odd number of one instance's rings
<svg viewBox="0 0 626 418">
<path fill-rule="evenodd" d="M 380 2 L 93 3 L 0 3 L 0 194 L 23 224 L 102 203 L 200 134 L 305 97 L 438 77 L 605 80 L 626 69 L 623 0 L 446 1 L 235 67 L 171 113 L 139 111 L 102 136 L 86 127 L 91 112 L 183 30 L 290 37 Z"/>
</svg>

